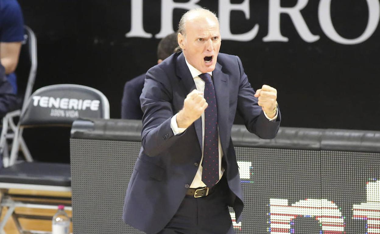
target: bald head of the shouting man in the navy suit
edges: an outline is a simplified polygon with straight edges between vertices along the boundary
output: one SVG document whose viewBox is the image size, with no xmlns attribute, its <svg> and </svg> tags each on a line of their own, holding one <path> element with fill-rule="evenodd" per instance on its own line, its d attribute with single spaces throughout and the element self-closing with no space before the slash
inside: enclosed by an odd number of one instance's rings
<svg viewBox="0 0 380 234">
<path fill-rule="evenodd" d="M 202 73 L 214 71 L 221 44 L 214 13 L 202 8 L 185 13 L 179 22 L 177 39 L 190 65 Z"/>
</svg>

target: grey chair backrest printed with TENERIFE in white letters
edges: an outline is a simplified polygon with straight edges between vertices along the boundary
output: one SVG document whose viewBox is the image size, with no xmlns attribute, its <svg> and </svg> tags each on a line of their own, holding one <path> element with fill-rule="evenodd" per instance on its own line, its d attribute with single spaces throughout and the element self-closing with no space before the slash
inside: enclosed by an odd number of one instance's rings
<svg viewBox="0 0 380 234">
<path fill-rule="evenodd" d="M 71 125 L 78 118 L 109 119 L 108 99 L 94 88 L 59 84 L 36 90 L 23 108 L 19 124 Z"/>
</svg>

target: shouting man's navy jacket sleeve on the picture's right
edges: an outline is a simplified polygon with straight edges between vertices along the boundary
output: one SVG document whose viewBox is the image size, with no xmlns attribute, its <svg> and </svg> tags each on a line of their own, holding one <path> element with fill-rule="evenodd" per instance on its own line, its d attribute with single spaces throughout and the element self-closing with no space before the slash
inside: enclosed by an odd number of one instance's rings
<svg viewBox="0 0 380 234">
<path fill-rule="evenodd" d="M 237 96 L 237 111 L 244 119 L 245 127 L 249 132 L 255 133 L 258 137 L 263 139 L 272 139 L 276 136 L 280 121 L 281 114 L 280 108 L 278 108 L 278 115 L 275 121 L 269 121 L 261 107 L 257 104 L 258 99 L 255 97 L 255 91 L 248 81 L 247 75 L 244 73 L 244 69 L 239 57 L 237 63 L 239 64 L 240 83 L 239 93 Z"/>
</svg>

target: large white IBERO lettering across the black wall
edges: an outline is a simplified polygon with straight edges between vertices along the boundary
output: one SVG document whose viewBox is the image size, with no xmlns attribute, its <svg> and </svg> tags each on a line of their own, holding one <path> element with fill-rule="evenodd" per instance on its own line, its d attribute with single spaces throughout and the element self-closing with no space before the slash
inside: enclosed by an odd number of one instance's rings
<svg viewBox="0 0 380 234">
<path fill-rule="evenodd" d="M 380 3 L 379 0 L 366 0 L 369 16 L 367 27 L 363 34 L 355 39 L 347 39 L 340 36 L 332 24 L 330 5 L 331 0 L 320 0 L 318 6 L 318 19 L 322 31 L 332 41 L 340 44 L 358 44 L 366 41 L 377 29 L 380 19 Z M 161 28 L 156 38 L 163 38 L 173 33 L 173 12 L 174 9 L 190 10 L 201 8 L 198 5 L 200 0 L 188 0 L 187 2 L 174 2 L 174 0 L 161 0 Z M 298 0 L 293 7 L 281 7 L 281 0 L 268 0 L 268 35 L 263 38 L 264 42 L 280 41 L 288 42 L 289 39 L 281 34 L 280 16 L 287 14 L 293 22 L 299 36 L 306 42 L 315 42 L 320 36 L 313 35 L 307 26 L 301 10 L 304 9 L 309 0 Z M 131 0 L 131 30 L 125 35 L 129 37 L 152 38 L 153 34 L 147 33 L 143 25 L 143 4 L 142 0 Z M 159 11 L 159 9 L 157 9 Z M 252 29 L 241 34 L 231 33 L 231 11 L 242 11 L 246 19 L 250 19 L 250 0 L 243 0 L 242 3 L 231 3 L 231 0 L 218 0 L 218 17 L 220 20 L 220 33 L 222 39 L 233 41 L 251 41 L 254 39 L 259 30 L 259 25 L 252 25 Z M 149 16 L 145 16 L 149 17 Z M 365 17 L 365 16 L 363 16 Z M 239 23 L 239 22 L 238 22 Z M 243 22 L 240 22 L 243 23 Z"/>
</svg>

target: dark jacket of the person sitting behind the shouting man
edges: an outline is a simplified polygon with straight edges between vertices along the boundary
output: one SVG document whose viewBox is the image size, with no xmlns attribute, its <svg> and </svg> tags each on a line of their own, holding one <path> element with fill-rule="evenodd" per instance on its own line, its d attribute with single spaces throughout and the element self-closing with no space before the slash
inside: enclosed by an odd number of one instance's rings
<svg viewBox="0 0 380 234">
<path fill-rule="evenodd" d="M 145 73 L 125 82 L 121 100 L 122 119 L 142 119 L 140 95 L 144 87 Z"/>
</svg>

